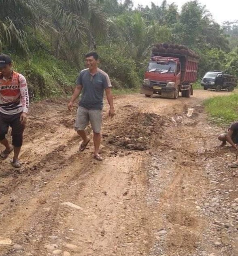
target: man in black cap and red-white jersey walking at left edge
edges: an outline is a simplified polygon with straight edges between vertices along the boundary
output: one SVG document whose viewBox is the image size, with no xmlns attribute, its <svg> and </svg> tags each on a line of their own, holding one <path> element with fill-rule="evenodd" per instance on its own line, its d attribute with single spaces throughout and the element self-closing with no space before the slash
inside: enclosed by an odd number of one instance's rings
<svg viewBox="0 0 238 256">
<path fill-rule="evenodd" d="M 26 126 L 29 107 L 28 87 L 25 77 L 12 70 L 12 60 L 8 55 L 0 55 L 0 143 L 5 146 L 0 154 L 6 159 L 14 150 L 11 164 L 19 168 L 18 156 Z M 6 139 L 9 126 L 12 128 L 13 146 Z"/>
</svg>

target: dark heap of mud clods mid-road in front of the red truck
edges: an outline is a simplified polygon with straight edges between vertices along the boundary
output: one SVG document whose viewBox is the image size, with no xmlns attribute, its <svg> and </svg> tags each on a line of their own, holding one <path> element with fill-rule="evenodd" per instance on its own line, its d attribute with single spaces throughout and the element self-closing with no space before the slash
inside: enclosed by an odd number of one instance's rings
<svg viewBox="0 0 238 256">
<path fill-rule="evenodd" d="M 158 146 L 158 140 L 162 138 L 164 128 L 171 121 L 155 113 L 141 113 L 135 111 L 123 122 L 117 124 L 117 134 L 114 129 L 108 135 L 107 143 L 114 147 L 128 150 L 144 151 Z"/>
</svg>

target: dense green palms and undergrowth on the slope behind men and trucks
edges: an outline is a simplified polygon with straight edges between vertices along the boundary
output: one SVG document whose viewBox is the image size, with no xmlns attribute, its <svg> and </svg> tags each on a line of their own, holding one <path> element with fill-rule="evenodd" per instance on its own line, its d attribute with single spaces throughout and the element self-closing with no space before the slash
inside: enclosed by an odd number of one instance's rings
<svg viewBox="0 0 238 256">
<path fill-rule="evenodd" d="M 197 1 L 181 11 L 166 1 L 142 7 L 131 0 L 0 0 L 0 6 L 0 51 L 13 57 L 36 99 L 71 92 L 93 49 L 114 88 L 126 92 L 140 86 L 157 42 L 196 51 L 198 79 L 213 69 L 238 75 L 237 21 L 220 26 Z"/>
</svg>

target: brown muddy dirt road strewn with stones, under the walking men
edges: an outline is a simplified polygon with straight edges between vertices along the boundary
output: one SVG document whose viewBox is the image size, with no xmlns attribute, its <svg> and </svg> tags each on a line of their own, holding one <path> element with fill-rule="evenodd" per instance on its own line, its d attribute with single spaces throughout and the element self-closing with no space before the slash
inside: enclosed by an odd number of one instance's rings
<svg viewBox="0 0 238 256">
<path fill-rule="evenodd" d="M 116 96 L 102 162 L 92 143 L 77 152 L 64 100 L 32 104 L 24 167 L 0 162 L 0 256 L 238 255 L 238 171 L 206 121 L 213 95 Z"/>
</svg>

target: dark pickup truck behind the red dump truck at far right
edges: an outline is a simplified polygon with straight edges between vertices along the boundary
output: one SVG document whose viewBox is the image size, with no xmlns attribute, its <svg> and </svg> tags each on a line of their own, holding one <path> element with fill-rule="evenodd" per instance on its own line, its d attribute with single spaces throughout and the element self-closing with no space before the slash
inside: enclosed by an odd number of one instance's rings
<svg viewBox="0 0 238 256">
<path fill-rule="evenodd" d="M 201 85 L 204 90 L 215 89 L 217 92 L 228 90 L 232 92 L 237 86 L 237 78 L 233 75 L 224 74 L 222 71 L 210 71 L 204 75 Z"/>
</svg>

